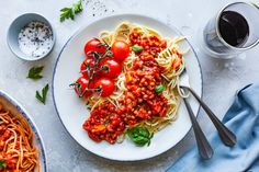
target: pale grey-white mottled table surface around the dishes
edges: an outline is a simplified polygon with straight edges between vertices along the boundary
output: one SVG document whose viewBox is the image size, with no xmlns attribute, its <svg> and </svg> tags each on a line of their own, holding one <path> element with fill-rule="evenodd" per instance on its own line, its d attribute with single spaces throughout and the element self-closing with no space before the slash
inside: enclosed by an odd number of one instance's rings
<svg viewBox="0 0 259 172">
<path fill-rule="evenodd" d="M 75 21 L 60 23 L 59 10 L 75 1 L 9 0 L 0 2 L 0 89 L 21 102 L 34 118 L 46 147 L 49 172 L 165 171 L 194 145 L 194 137 L 190 131 L 173 149 L 158 157 L 138 162 L 117 162 L 92 154 L 68 135 L 55 111 L 52 92 L 47 95 L 46 105 L 43 105 L 35 99 L 35 91 L 52 82 L 54 65 L 61 47 L 81 25 L 111 14 L 138 13 L 180 28 L 193 44 L 201 61 L 204 80 L 203 99 L 219 118 L 232 104 L 237 89 L 259 81 L 259 46 L 230 60 L 207 57 L 198 46 L 200 38 L 198 33 L 203 24 L 229 1 L 85 0 L 82 14 L 76 16 Z M 57 35 L 53 53 L 36 62 L 18 59 L 10 51 L 5 42 L 10 23 L 20 14 L 27 12 L 36 12 L 46 16 Z M 29 69 L 36 65 L 45 66 L 44 78 L 40 81 L 26 79 Z M 203 112 L 200 112 L 199 122 L 206 134 L 215 131 Z"/>
</svg>

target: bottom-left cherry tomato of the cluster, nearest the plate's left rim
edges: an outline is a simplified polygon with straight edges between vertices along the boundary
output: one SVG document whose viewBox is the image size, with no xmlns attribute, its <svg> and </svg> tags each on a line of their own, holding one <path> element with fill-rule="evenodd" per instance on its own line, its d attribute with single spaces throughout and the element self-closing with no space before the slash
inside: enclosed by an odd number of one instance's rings
<svg viewBox="0 0 259 172">
<path fill-rule="evenodd" d="M 83 98 L 88 98 L 92 94 L 92 91 L 86 91 L 85 90 L 87 89 L 88 87 L 88 78 L 87 77 L 80 77 L 76 83 L 74 84 L 74 88 L 75 88 L 75 91 L 76 93 L 80 96 L 83 96 Z M 93 89 L 93 82 L 90 82 L 89 84 L 89 89 Z M 85 92 L 85 93 L 83 93 Z M 83 95 L 82 95 L 83 94 Z"/>
</svg>

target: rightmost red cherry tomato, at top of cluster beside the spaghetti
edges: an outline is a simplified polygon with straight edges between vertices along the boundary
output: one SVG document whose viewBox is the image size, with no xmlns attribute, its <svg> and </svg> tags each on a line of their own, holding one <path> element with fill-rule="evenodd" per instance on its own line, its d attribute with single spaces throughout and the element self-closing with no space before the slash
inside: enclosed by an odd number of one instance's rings
<svg viewBox="0 0 259 172">
<path fill-rule="evenodd" d="M 112 45 L 112 53 L 115 59 L 123 61 L 131 53 L 130 45 L 123 41 L 117 41 Z"/>
</svg>

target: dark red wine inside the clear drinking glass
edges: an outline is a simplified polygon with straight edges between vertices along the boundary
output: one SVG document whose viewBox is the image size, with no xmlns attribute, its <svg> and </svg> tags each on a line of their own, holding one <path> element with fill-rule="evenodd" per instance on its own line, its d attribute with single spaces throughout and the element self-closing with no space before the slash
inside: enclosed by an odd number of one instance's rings
<svg viewBox="0 0 259 172">
<path fill-rule="evenodd" d="M 224 11 L 218 23 L 223 39 L 232 46 L 243 46 L 249 36 L 246 19 L 235 11 Z"/>
</svg>

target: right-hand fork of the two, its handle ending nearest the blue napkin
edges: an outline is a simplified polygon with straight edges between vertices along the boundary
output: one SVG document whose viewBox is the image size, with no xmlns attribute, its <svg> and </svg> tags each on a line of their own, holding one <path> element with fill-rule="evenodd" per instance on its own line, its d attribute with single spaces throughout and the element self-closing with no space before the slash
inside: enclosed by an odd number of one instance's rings
<svg viewBox="0 0 259 172">
<path fill-rule="evenodd" d="M 185 71 L 180 76 L 180 89 L 187 91 L 190 91 L 191 94 L 198 100 L 198 102 L 201 104 L 203 110 L 206 112 L 207 116 L 216 127 L 221 140 L 226 145 L 226 146 L 234 146 L 236 144 L 236 136 L 233 134 L 217 117 L 216 115 L 212 112 L 212 110 L 202 101 L 201 98 L 195 93 L 195 91 L 190 87 L 189 84 L 189 76 Z"/>
</svg>

